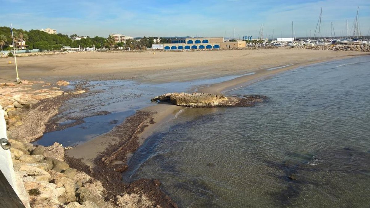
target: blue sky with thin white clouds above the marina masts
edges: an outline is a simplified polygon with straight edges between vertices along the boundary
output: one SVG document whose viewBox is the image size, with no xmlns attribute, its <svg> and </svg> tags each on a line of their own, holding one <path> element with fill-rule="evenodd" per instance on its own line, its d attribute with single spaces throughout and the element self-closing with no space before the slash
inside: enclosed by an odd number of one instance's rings
<svg viewBox="0 0 370 208">
<path fill-rule="evenodd" d="M 202 36 L 256 38 L 314 36 L 322 12 L 321 36 L 350 33 L 359 9 L 360 30 L 370 29 L 370 0 L 0 0 L 0 26 L 24 30 L 53 28 L 57 33 L 108 37 Z M 334 34 L 333 34 L 334 36 Z M 317 37 L 317 35 L 316 35 Z"/>
</svg>

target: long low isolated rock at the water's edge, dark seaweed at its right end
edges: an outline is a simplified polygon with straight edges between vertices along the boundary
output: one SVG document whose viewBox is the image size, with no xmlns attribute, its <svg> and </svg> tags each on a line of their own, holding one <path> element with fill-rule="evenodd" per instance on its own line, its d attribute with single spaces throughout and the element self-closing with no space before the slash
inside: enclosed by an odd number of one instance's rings
<svg viewBox="0 0 370 208">
<path fill-rule="evenodd" d="M 188 107 L 248 107 L 267 99 L 262 95 L 238 95 L 225 97 L 208 93 L 167 93 L 151 99 L 152 102 L 168 102 Z"/>
</svg>

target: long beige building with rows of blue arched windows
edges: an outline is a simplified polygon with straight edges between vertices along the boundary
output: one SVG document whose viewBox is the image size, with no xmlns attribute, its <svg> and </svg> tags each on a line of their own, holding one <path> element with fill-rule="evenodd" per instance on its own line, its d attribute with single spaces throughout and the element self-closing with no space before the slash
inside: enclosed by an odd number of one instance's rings
<svg viewBox="0 0 370 208">
<path fill-rule="evenodd" d="M 245 41 L 224 42 L 223 37 L 178 38 L 163 44 L 164 50 L 244 48 Z"/>
</svg>

